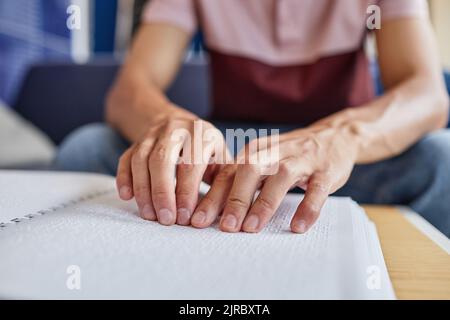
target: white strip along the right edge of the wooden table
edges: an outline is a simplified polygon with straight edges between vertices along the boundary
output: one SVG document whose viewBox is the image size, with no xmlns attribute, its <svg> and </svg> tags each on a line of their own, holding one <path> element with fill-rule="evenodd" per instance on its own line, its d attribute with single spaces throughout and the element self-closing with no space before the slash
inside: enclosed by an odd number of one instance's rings
<svg viewBox="0 0 450 320">
<path fill-rule="evenodd" d="M 425 220 L 420 214 L 414 212 L 408 207 L 397 207 L 403 216 L 419 229 L 428 238 L 433 240 L 439 247 L 450 255 L 450 239 L 436 229 L 431 223 Z"/>
</svg>

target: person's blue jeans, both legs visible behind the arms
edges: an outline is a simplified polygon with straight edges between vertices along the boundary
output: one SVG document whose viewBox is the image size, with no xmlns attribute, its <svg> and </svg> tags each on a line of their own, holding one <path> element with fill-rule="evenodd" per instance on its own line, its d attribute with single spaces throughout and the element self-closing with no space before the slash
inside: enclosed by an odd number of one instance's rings
<svg viewBox="0 0 450 320">
<path fill-rule="evenodd" d="M 221 130 L 254 127 L 216 125 Z M 282 127 L 281 132 L 291 129 Z M 88 125 L 63 142 L 55 166 L 58 170 L 115 175 L 118 159 L 128 147 L 128 142 L 107 125 Z M 347 184 L 335 195 L 349 196 L 359 203 L 407 205 L 450 237 L 450 130 L 425 136 L 400 156 L 355 166 Z"/>
</svg>

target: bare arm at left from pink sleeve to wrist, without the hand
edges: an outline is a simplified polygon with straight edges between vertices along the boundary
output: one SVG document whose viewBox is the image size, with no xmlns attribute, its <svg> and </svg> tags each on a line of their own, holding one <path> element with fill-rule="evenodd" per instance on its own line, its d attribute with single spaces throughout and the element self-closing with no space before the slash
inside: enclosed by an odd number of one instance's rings
<svg viewBox="0 0 450 320">
<path fill-rule="evenodd" d="M 107 98 L 106 118 L 130 141 L 169 114 L 193 117 L 164 95 L 181 64 L 190 40 L 167 24 L 144 25 L 138 31 L 120 74 Z"/>
</svg>

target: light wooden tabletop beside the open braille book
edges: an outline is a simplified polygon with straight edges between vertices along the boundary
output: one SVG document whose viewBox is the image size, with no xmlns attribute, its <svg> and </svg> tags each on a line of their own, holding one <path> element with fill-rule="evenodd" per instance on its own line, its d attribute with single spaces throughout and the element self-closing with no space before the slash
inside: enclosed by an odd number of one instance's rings
<svg viewBox="0 0 450 320">
<path fill-rule="evenodd" d="M 400 209 L 364 209 L 377 226 L 397 298 L 450 299 L 450 254 L 414 226 Z"/>
</svg>

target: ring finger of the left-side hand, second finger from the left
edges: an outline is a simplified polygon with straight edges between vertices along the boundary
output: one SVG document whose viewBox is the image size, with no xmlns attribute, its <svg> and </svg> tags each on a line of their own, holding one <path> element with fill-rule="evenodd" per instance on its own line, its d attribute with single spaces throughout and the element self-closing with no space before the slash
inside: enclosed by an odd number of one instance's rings
<svg viewBox="0 0 450 320">
<path fill-rule="evenodd" d="M 148 158 L 154 140 L 146 139 L 136 145 L 131 158 L 131 171 L 133 175 L 133 192 L 139 207 L 141 217 L 146 220 L 156 220 L 155 210 L 151 198 L 151 182 L 148 170 Z"/>
</svg>

